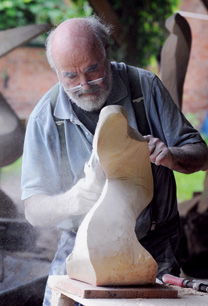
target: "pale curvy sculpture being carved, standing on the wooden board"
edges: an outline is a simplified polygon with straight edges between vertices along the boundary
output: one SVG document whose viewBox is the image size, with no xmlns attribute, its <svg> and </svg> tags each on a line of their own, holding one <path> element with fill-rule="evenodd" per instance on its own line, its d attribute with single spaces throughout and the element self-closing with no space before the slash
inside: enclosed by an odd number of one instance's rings
<svg viewBox="0 0 208 306">
<path fill-rule="evenodd" d="M 96 286 L 154 283 L 157 264 L 134 232 L 137 217 L 153 196 L 148 144 L 128 125 L 122 107 L 107 106 L 100 114 L 93 151 L 106 182 L 79 227 L 66 260 L 67 274 Z M 97 169 L 99 164 L 92 169 L 94 176 Z M 96 180 L 92 172 L 86 171 L 86 179 Z"/>
</svg>

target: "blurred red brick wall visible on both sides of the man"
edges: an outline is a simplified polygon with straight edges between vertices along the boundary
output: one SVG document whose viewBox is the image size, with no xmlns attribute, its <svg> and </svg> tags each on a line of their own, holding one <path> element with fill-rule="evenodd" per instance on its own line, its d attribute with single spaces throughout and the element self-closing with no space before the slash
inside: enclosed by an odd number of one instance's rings
<svg viewBox="0 0 208 306">
<path fill-rule="evenodd" d="M 200 0 L 183 0 L 180 10 L 207 14 Z M 202 122 L 208 110 L 208 21 L 187 18 L 192 49 L 184 84 L 183 111 Z M 27 119 L 42 95 L 57 82 L 44 48 L 22 47 L 0 58 L 0 91 L 21 119 Z"/>
</svg>

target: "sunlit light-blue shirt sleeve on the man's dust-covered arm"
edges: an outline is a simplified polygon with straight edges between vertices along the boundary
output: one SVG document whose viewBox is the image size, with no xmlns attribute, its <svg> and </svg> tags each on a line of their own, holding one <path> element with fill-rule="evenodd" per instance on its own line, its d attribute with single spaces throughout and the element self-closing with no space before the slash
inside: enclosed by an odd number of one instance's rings
<svg viewBox="0 0 208 306">
<path fill-rule="evenodd" d="M 28 121 L 23 151 L 22 200 L 40 193 L 60 193 L 60 154 L 58 132 L 52 116 L 44 120 L 32 115 Z"/>
</svg>

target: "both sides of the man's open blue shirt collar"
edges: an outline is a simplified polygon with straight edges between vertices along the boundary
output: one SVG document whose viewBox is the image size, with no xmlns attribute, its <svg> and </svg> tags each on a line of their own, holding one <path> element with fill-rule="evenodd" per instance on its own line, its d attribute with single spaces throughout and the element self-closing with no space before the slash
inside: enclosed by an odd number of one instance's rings
<svg viewBox="0 0 208 306">
<path fill-rule="evenodd" d="M 112 77 L 113 77 L 113 86 L 111 93 L 107 99 L 107 105 L 115 104 L 118 101 L 124 99 L 128 95 L 127 88 L 120 74 L 116 71 L 113 65 L 112 68 Z M 60 119 L 69 119 L 73 121 L 76 118 L 76 115 L 73 112 L 71 101 L 65 93 L 61 83 L 59 83 L 59 95 L 56 102 L 56 107 L 54 110 L 54 116 Z"/>
</svg>

